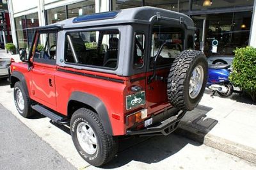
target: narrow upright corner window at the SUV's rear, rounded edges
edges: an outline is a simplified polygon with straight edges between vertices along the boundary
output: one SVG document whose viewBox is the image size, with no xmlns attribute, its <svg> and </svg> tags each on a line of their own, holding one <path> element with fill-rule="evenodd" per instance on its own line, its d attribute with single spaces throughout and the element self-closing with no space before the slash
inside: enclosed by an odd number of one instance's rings
<svg viewBox="0 0 256 170">
<path fill-rule="evenodd" d="M 144 64 L 145 52 L 145 35 L 136 34 L 134 36 L 134 52 L 133 52 L 133 66 L 140 68 Z"/>
</svg>

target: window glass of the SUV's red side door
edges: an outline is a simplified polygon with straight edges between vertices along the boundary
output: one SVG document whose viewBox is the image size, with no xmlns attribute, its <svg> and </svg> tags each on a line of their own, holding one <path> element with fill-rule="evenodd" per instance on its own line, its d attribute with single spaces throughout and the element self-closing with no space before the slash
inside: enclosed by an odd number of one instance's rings
<svg viewBox="0 0 256 170">
<path fill-rule="evenodd" d="M 56 60 L 57 33 L 40 33 L 34 58 Z"/>
</svg>

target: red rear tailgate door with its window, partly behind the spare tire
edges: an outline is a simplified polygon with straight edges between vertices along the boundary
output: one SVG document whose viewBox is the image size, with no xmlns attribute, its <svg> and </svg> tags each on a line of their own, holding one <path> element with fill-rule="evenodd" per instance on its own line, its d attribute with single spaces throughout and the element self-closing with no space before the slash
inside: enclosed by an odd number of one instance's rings
<svg viewBox="0 0 256 170">
<path fill-rule="evenodd" d="M 156 62 L 156 77 L 146 84 L 146 107 L 148 113 L 152 114 L 161 111 L 168 106 L 166 86 L 170 65 L 176 56 L 184 49 L 184 31 L 182 27 L 169 25 L 170 22 L 156 22 L 150 29 L 150 60 L 148 62 L 147 81 L 153 75 L 154 59 L 163 43 L 162 52 Z"/>
</svg>

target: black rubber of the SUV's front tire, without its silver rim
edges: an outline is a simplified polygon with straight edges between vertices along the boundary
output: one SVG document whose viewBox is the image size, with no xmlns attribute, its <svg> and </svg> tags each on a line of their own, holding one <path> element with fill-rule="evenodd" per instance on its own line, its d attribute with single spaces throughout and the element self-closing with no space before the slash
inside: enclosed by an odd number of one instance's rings
<svg viewBox="0 0 256 170">
<path fill-rule="evenodd" d="M 24 99 L 24 109 L 20 109 L 19 105 L 17 104 L 17 91 L 20 90 L 22 93 L 22 97 Z M 17 108 L 17 111 L 21 116 L 24 118 L 29 118 L 35 114 L 35 111 L 31 108 L 31 99 L 25 92 L 24 87 L 22 86 L 22 83 L 20 81 L 16 82 L 14 84 L 14 90 L 13 90 L 13 97 L 14 97 L 14 103 Z"/>
</svg>

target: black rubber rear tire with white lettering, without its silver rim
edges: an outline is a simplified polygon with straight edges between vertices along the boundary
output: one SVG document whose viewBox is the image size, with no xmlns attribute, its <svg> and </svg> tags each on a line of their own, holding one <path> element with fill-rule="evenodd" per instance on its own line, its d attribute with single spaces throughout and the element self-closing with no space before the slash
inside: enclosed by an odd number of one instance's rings
<svg viewBox="0 0 256 170">
<path fill-rule="evenodd" d="M 88 123 L 93 128 L 97 137 L 97 151 L 92 155 L 83 150 L 77 139 L 77 125 L 82 121 Z M 117 137 L 106 134 L 102 121 L 97 113 L 86 108 L 75 111 L 71 118 L 70 133 L 79 155 L 93 166 L 102 166 L 115 157 L 118 150 L 118 139 Z"/>
</svg>

